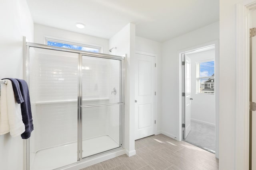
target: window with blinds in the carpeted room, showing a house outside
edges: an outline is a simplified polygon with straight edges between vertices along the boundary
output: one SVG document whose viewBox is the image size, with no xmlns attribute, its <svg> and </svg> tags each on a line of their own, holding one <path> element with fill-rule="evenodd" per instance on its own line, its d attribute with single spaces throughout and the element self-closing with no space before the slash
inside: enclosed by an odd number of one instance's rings
<svg viewBox="0 0 256 170">
<path fill-rule="evenodd" d="M 214 94 L 214 61 L 196 63 L 196 93 Z"/>
</svg>

